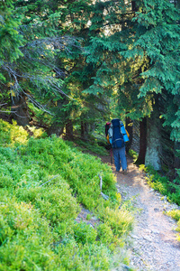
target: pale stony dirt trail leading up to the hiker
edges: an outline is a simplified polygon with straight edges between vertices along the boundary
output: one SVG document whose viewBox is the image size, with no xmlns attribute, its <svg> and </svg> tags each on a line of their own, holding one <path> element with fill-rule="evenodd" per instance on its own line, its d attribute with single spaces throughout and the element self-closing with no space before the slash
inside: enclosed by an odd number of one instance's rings
<svg viewBox="0 0 180 271">
<path fill-rule="evenodd" d="M 110 162 L 102 157 L 103 163 Z M 115 168 L 112 165 L 115 173 Z M 128 158 L 128 174 L 115 173 L 117 188 L 124 200 L 133 198 L 139 211 L 135 215 L 135 228 L 130 235 L 130 266 L 137 271 L 180 271 L 180 243 L 176 241 L 176 222 L 164 214 L 178 208 L 152 190 L 145 173 Z M 117 269 L 118 270 L 118 269 Z"/>
</svg>

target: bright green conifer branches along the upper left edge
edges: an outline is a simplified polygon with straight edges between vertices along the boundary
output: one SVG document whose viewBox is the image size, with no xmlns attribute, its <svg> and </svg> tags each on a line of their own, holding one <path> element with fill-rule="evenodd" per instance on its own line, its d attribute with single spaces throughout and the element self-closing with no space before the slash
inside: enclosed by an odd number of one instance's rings
<svg viewBox="0 0 180 271">
<path fill-rule="evenodd" d="M 1 98 L 1 112 L 6 110 L 7 101 L 9 100 L 10 82 L 7 80 L 11 73 L 10 65 L 23 52 L 20 46 L 23 44 L 23 36 L 18 33 L 20 20 L 14 17 L 13 1 L 0 1 L 0 98 Z"/>
</svg>

